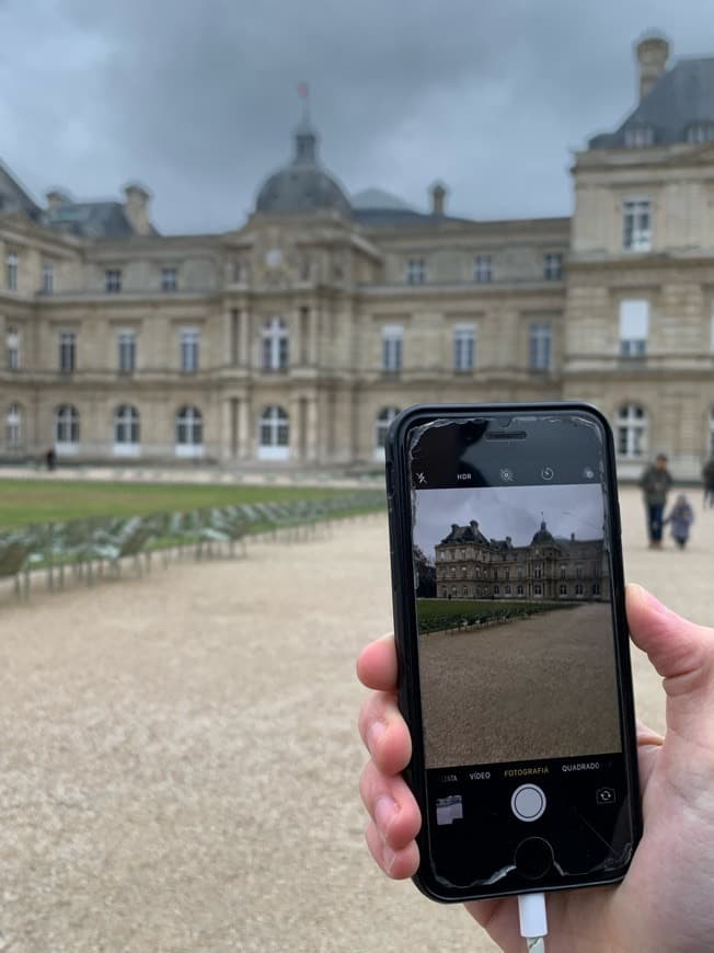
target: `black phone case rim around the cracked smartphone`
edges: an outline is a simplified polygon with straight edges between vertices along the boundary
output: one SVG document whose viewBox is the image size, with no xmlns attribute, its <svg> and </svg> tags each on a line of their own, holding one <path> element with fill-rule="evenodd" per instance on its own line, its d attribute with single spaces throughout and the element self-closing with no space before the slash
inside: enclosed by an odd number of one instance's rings
<svg viewBox="0 0 714 953">
<path fill-rule="evenodd" d="M 636 722 L 634 714 L 634 697 L 632 688 L 632 669 L 629 648 L 629 629 L 625 616 L 624 602 L 624 572 L 622 561 L 622 547 L 620 542 L 621 526 L 620 512 L 617 504 L 617 474 L 614 467 L 614 443 L 612 430 L 604 415 L 595 406 L 584 402 L 543 402 L 543 403 L 494 403 L 494 404 L 417 404 L 407 407 L 392 422 L 385 441 L 385 478 L 389 513 L 389 538 L 390 561 L 392 572 L 392 602 L 394 615 L 394 635 L 398 655 L 398 696 L 400 710 L 410 727 L 413 739 L 413 755 L 404 779 L 413 791 L 416 801 L 425 817 L 426 810 L 426 769 L 423 760 L 422 745 L 422 711 L 419 694 L 418 658 L 416 651 L 416 615 L 414 599 L 414 572 L 412 562 L 411 538 L 411 487 L 408 482 L 408 468 L 406 463 L 405 437 L 416 421 L 424 420 L 468 420 L 473 416 L 484 416 L 490 413 L 513 413 L 521 415 L 528 413 L 577 413 L 591 415 L 602 426 L 606 437 L 604 460 L 607 466 L 606 480 L 610 498 L 614 502 L 611 507 L 611 538 L 612 546 L 612 599 L 614 605 L 614 618 L 618 630 L 617 639 L 617 678 L 622 712 L 623 755 L 629 789 L 630 822 L 633 833 L 634 848 L 642 836 L 642 812 L 640 804 L 640 783 L 637 771 L 637 744 Z M 540 893 L 542 891 L 572 889 L 584 886 L 602 886 L 604 884 L 619 883 L 625 875 L 631 860 L 615 873 L 608 872 L 596 877 L 574 876 L 568 882 L 558 879 L 557 882 L 539 881 L 532 886 L 523 886 L 517 891 L 493 888 L 480 891 L 464 891 L 449 888 L 437 883 L 430 875 L 428 866 L 424 862 L 427 857 L 427 831 L 426 825 L 417 835 L 422 863 L 413 877 L 416 886 L 430 899 L 440 903 L 461 903 L 471 899 L 491 899 L 499 896 L 508 896 L 520 893 Z M 477 850 L 477 845 L 464 845 L 464 850 Z"/>
</svg>

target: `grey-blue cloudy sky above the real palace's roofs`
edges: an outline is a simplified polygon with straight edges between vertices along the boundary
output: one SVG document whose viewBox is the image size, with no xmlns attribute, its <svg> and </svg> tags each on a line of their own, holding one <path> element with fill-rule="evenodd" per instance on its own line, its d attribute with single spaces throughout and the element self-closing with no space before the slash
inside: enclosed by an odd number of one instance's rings
<svg viewBox="0 0 714 953">
<path fill-rule="evenodd" d="M 307 81 L 324 163 L 418 208 L 567 215 L 572 149 L 635 104 L 633 41 L 714 55 L 712 0 L 0 0 L 0 159 L 36 198 L 153 193 L 165 232 L 240 226 Z"/>
</svg>

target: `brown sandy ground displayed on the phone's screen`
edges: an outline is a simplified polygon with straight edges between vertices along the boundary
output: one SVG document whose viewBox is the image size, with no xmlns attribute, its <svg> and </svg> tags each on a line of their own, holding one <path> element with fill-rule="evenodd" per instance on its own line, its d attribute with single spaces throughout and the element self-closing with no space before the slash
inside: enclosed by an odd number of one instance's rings
<svg viewBox="0 0 714 953">
<path fill-rule="evenodd" d="M 609 602 L 424 635 L 419 659 L 427 768 L 622 748 Z"/>
</svg>

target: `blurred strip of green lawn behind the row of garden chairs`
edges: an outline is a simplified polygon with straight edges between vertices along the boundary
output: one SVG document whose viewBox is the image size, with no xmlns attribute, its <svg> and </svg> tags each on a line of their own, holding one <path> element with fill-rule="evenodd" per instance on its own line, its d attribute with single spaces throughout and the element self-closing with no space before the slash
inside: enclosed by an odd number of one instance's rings
<svg viewBox="0 0 714 953">
<path fill-rule="evenodd" d="M 212 486 L 171 483 L 101 483 L 88 481 L 0 480 L 0 528 L 87 516 L 141 516 L 230 506 L 324 500 L 354 491 L 292 486 Z"/>
</svg>

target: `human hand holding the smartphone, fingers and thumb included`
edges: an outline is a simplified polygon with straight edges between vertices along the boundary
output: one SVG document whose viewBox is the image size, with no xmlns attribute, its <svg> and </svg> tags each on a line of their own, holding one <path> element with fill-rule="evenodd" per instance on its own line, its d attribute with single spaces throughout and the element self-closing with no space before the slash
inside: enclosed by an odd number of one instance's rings
<svg viewBox="0 0 714 953">
<path fill-rule="evenodd" d="M 714 949 L 714 630 L 641 586 L 627 586 L 626 609 L 633 642 L 664 678 L 667 733 L 637 730 L 644 834 L 626 877 L 617 887 L 549 894 L 549 953 Z M 422 818 L 400 774 L 412 743 L 396 707 L 393 638 L 368 645 L 357 671 L 372 689 L 359 715 L 370 754 L 360 779 L 367 845 L 389 876 L 410 877 Z M 467 908 L 503 950 L 525 949 L 515 897 Z"/>
</svg>

